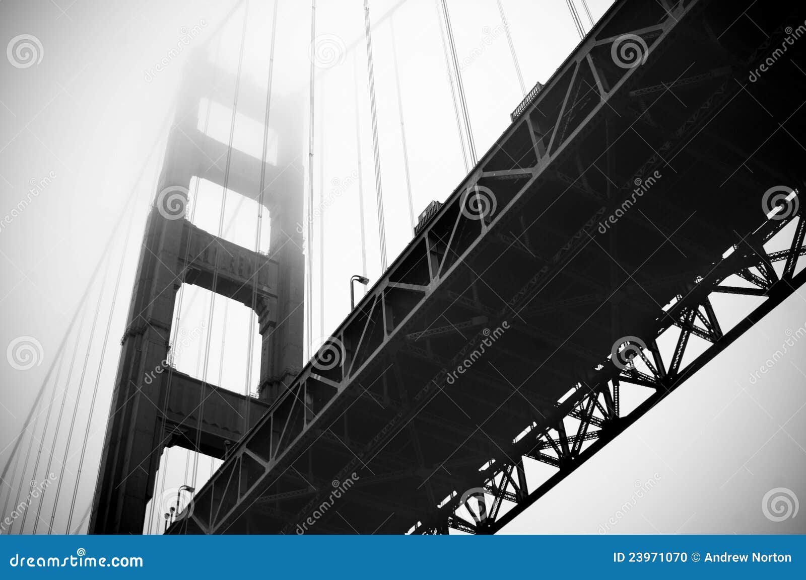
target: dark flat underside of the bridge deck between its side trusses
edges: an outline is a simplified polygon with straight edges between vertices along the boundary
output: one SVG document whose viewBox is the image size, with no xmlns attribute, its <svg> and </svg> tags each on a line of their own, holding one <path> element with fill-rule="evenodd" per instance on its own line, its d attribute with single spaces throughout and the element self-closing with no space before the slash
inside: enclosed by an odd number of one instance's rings
<svg viewBox="0 0 806 580">
<path fill-rule="evenodd" d="M 613 16 L 600 38 L 663 18 L 660 4 L 626 4 L 630 10 Z M 766 219 L 764 191 L 800 183 L 806 75 L 794 63 L 806 65 L 806 45 L 790 46 L 787 59 L 756 83 L 747 74 L 754 54 L 766 54 L 758 52 L 765 40 L 758 27 L 772 35 L 785 19 L 796 26 L 803 18 L 768 9 L 752 22 L 738 18 L 743 2 L 695 8 L 598 111 L 604 99 L 597 79 L 580 68 L 574 80 L 560 79 L 571 88 L 580 84 L 564 109 L 567 92 L 556 82 L 556 96 L 546 95 L 515 120 L 505 146 L 481 163 L 478 181 L 494 193 L 499 211 L 515 200 L 505 219 L 434 225 L 429 247 L 442 249 L 434 260 L 444 261 L 441 272 L 457 262 L 455 269 L 429 282 L 434 265 L 430 271 L 426 259 L 409 262 L 408 279 L 422 279 L 433 291 L 306 427 L 287 459 L 238 500 L 243 508 L 210 531 L 405 532 L 452 492 L 482 485 L 480 467 L 526 426 L 540 426 L 564 393 L 605 362 L 615 340 L 655 332 L 663 306 Z M 652 35 L 646 39 L 651 43 Z M 605 44 L 591 55 L 600 81 L 615 84 L 624 70 L 609 52 Z M 551 157 L 559 147 L 542 136 L 558 124 L 573 138 Z M 538 159 L 543 150 L 545 166 Z M 459 212 L 458 204 L 447 206 L 442 216 Z M 487 228 L 484 237 L 459 260 L 463 237 L 476 237 L 480 228 Z M 569 242 L 574 251 L 558 263 Z M 541 271 L 540 285 L 516 294 Z M 418 300 L 415 290 L 388 292 L 395 293 L 389 320 L 395 303 Z M 384 320 L 366 301 L 363 308 L 364 334 L 383 333 Z M 484 328 L 489 345 L 461 353 Z M 467 370 L 456 372 L 456 360 L 469 360 Z M 379 438 L 419 402 L 423 385 L 446 372 L 451 379 L 439 381 L 422 410 Z M 320 382 L 305 401 L 310 415 L 322 406 L 317 397 L 336 390 Z M 357 478 L 334 499 L 330 492 L 343 486 L 351 464 Z M 252 482 L 250 470 L 242 470 L 244 490 Z M 226 480 L 226 465 L 221 475 Z M 201 500 L 197 512 L 232 508 L 222 489 Z"/>
</svg>

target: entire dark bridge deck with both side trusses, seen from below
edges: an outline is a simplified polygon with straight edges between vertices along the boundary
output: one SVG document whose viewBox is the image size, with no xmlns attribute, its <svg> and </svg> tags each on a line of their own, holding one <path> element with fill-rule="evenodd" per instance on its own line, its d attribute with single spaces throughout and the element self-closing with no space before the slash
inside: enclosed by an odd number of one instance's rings
<svg viewBox="0 0 806 580">
<path fill-rule="evenodd" d="M 494 533 L 796 290 L 806 27 L 753 6 L 615 2 L 168 532 Z"/>
</svg>

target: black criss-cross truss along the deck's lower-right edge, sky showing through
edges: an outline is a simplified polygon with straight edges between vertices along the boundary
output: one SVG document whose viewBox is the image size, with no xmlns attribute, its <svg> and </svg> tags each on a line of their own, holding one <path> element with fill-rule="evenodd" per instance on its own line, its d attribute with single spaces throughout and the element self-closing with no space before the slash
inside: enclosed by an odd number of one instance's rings
<svg viewBox="0 0 806 580">
<path fill-rule="evenodd" d="M 797 207 L 795 204 L 794 208 Z M 455 494 L 426 523 L 418 522 L 411 531 L 445 534 L 449 529 L 455 529 L 474 534 L 496 533 L 683 385 L 806 282 L 806 269 L 795 274 L 798 258 L 806 255 L 806 218 L 803 213 L 768 220 L 729 249 L 727 257 L 704 275 L 693 279 L 691 290 L 684 295 L 678 294 L 665 313 L 656 319 L 654 336 L 646 337 L 646 343 L 639 337 L 628 337 L 624 344 L 617 345 L 625 348 L 629 355 L 625 357 L 625 350 L 619 350 L 603 360 L 592 380 L 573 385 L 573 393 L 556 405 L 555 414 L 542 422 L 547 426 L 540 429 L 528 427 L 502 450 L 501 455 L 480 469 L 480 476 L 484 479 L 482 487 Z M 792 222 L 797 225 L 789 247 L 767 253 L 764 249 L 767 242 Z M 779 275 L 774 265 L 781 262 L 783 272 Z M 732 277 L 742 278 L 748 282 L 747 286 L 729 283 Z M 713 294 L 762 297 L 765 301 L 730 331 L 723 332 L 711 305 Z M 679 330 L 677 343 L 671 353 L 662 356 L 658 341 L 672 327 Z M 708 341 L 710 346 L 683 366 L 681 363 L 692 335 Z M 614 359 L 617 363 L 613 362 Z M 641 405 L 624 414 L 619 405 L 622 383 L 652 389 Z M 575 433 L 569 434 L 567 423 L 571 418 L 578 427 Z M 523 458 L 546 463 L 557 471 L 530 491 Z M 504 502 L 511 507 L 500 515 Z"/>
</svg>

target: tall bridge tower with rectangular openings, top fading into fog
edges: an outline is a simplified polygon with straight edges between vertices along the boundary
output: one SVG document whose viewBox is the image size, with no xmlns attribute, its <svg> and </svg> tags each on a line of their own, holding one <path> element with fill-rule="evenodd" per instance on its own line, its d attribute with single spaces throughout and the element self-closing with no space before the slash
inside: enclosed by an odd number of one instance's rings
<svg viewBox="0 0 806 580">
<path fill-rule="evenodd" d="M 276 136 L 276 158 L 261 167 L 260 158 L 235 148 L 228 151 L 227 143 L 199 129 L 202 101 L 206 98 L 208 107 L 219 103 L 231 109 L 232 87 L 238 86 L 235 76 L 222 70 L 212 72 L 212 83 L 210 74 L 199 74 L 210 66 L 206 60 L 194 60 L 179 91 L 147 217 L 89 533 L 142 533 L 165 447 L 196 450 L 198 438 L 199 450 L 223 459 L 228 446 L 260 418 L 301 368 L 304 257 L 297 231 L 303 199 L 298 101 L 272 95 L 268 124 L 269 134 Z M 264 125 L 265 94 L 264 88 L 241 81 L 238 113 Z M 226 187 L 228 195 L 260 200 L 261 171 L 262 202 L 271 227 L 268 249 L 255 252 L 222 240 L 185 216 L 193 177 Z M 262 340 L 259 398 L 219 389 L 173 368 L 155 375 L 155 369 L 165 368 L 164 361 L 170 360 L 175 297 L 183 283 L 255 311 Z M 149 374 L 156 379 L 146 380 Z"/>
</svg>

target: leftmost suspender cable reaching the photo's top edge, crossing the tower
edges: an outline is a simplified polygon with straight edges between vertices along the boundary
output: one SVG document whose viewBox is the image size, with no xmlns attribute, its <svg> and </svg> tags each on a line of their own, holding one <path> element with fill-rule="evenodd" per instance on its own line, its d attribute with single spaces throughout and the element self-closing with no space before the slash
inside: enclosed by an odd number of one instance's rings
<svg viewBox="0 0 806 580">
<path fill-rule="evenodd" d="M 222 196 L 221 196 L 221 210 L 218 215 L 218 237 L 222 237 L 223 230 L 224 230 L 224 214 L 226 212 L 226 191 L 227 187 L 229 187 L 229 179 L 230 179 L 230 167 L 232 162 L 232 140 L 235 137 L 235 119 L 237 118 L 236 115 L 238 113 L 238 93 L 240 92 L 241 87 L 241 70 L 243 68 L 243 46 L 246 43 L 247 39 L 247 22 L 249 21 L 249 2 L 247 0 L 246 5 L 243 7 L 243 28 L 241 29 L 241 47 L 238 53 L 238 72 L 235 74 L 235 97 L 233 98 L 232 103 L 232 117 L 230 121 L 230 138 L 227 142 L 226 148 L 226 166 L 224 167 L 224 183 L 222 187 Z M 215 289 L 218 286 L 218 257 L 221 255 L 218 252 L 218 246 L 215 246 L 214 252 L 214 262 L 213 262 L 213 283 L 212 288 Z M 204 402 L 206 401 L 207 397 L 205 396 L 205 390 L 207 387 L 207 369 L 210 364 L 210 342 L 212 339 L 212 332 L 213 332 L 213 312 L 215 307 L 215 294 L 210 296 L 210 311 L 207 316 L 209 319 L 209 324 L 207 326 L 207 340 L 205 344 L 205 356 L 204 356 L 204 370 L 202 371 L 202 389 L 199 393 L 201 402 L 198 406 L 198 416 L 196 419 L 196 442 L 194 443 L 193 450 L 195 454 L 193 455 L 193 483 L 192 486 L 196 487 L 196 479 L 198 475 L 198 463 L 199 463 L 199 448 L 202 445 L 202 418 L 204 417 Z M 187 521 L 187 520 L 185 520 Z"/>
</svg>

